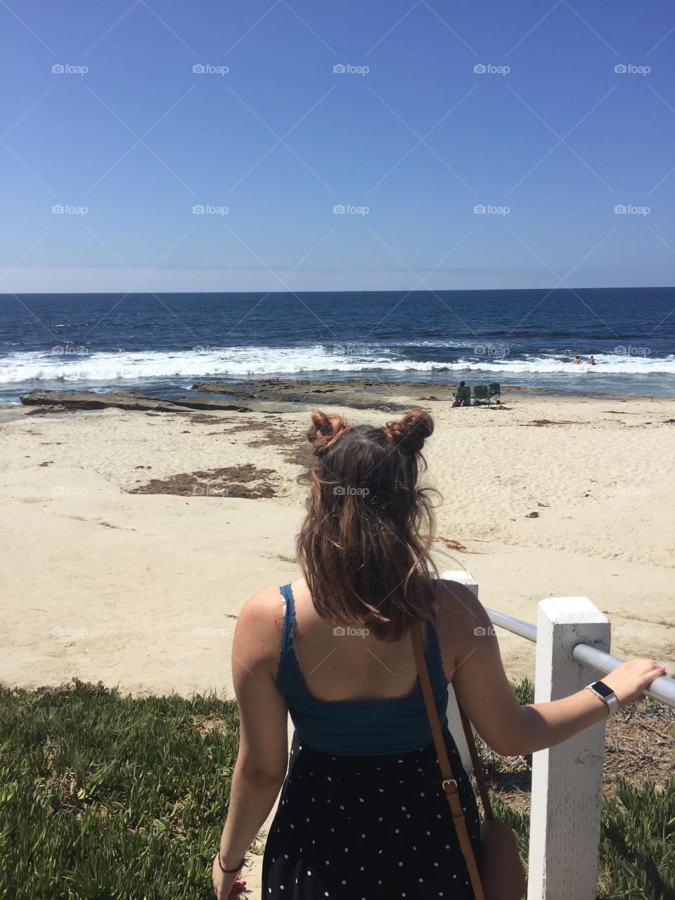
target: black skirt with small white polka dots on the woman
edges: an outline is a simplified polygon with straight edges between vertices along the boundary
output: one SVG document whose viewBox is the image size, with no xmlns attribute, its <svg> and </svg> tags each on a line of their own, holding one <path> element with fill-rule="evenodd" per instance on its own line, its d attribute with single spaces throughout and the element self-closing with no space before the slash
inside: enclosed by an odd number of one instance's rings
<svg viewBox="0 0 675 900">
<path fill-rule="evenodd" d="M 446 732 L 478 859 L 469 779 Z M 386 756 L 331 756 L 293 739 L 263 860 L 263 900 L 473 900 L 434 745 Z"/>
</svg>

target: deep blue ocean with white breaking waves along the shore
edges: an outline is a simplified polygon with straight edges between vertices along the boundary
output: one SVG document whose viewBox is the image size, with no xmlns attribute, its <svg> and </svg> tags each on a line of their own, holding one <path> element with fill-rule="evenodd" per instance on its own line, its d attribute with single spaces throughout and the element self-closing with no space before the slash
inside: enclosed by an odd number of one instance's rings
<svg viewBox="0 0 675 900">
<path fill-rule="evenodd" d="M 0 295 L 0 403 L 359 376 L 673 396 L 675 288 Z"/>
</svg>

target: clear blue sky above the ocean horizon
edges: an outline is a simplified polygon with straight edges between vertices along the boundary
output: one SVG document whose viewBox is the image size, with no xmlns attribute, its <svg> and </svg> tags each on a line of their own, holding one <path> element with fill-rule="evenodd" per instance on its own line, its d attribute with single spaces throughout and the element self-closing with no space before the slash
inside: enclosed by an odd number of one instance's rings
<svg viewBox="0 0 675 900">
<path fill-rule="evenodd" d="M 0 293 L 675 284 L 666 0 L 0 17 Z"/>
</svg>

